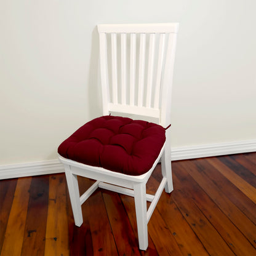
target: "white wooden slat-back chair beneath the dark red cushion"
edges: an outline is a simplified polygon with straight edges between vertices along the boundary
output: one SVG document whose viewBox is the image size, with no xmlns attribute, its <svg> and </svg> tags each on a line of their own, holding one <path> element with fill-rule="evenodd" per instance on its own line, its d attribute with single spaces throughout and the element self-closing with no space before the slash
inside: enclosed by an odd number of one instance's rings
<svg viewBox="0 0 256 256">
<path fill-rule="evenodd" d="M 98 25 L 104 116 L 110 113 L 118 113 L 119 116 L 123 113 L 136 114 L 143 116 L 142 119 L 154 118 L 162 127 L 169 126 L 177 31 L 178 23 Z M 98 187 L 134 196 L 138 243 L 140 249 L 146 250 L 148 247 L 147 223 L 162 190 L 165 188 L 167 193 L 173 190 L 170 129 L 164 130 L 166 139 L 158 156 L 141 175 L 125 174 L 122 171 L 103 168 L 100 164 L 95 166 L 97 164 L 91 165 L 77 161 L 71 149 L 79 148 L 74 145 L 74 141 L 83 136 L 82 129 L 65 140 L 64 146 L 62 143 L 58 149 L 58 157 L 65 166 L 76 226 L 81 226 L 83 222 L 81 204 Z M 98 139 L 92 138 L 92 140 L 96 143 Z M 68 142 L 71 143 L 69 149 L 65 147 L 65 143 Z M 83 143 L 79 143 L 81 147 Z M 109 151 L 106 153 L 111 154 Z M 86 153 L 79 148 L 77 154 L 82 158 Z M 88 158 L 89 161 L 91 158 L 92 156 Z M 146 182 L 160 159 L 162 182 L 154 196 L 146 194 Z M 140 163 L 139 159 L 137 160 Z M 77 175 L 97 180 L 82 196 L 79 195 Z M 146 201 L 151 201 L 148 210 Z"/>
</svg>

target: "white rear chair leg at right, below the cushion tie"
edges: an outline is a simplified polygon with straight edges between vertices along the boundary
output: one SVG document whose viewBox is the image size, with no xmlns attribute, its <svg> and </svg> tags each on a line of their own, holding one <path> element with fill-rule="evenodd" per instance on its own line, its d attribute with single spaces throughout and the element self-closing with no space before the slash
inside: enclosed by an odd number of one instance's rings
<svg viewBox="0 0 256 256">
<path fill-rule="evenodd" d="M 167 178 L 166 193 L 172 192 L 174 190 L 174 185 L 172 183 L 172 164 L 170 159 L 170 132 L 166 132 L 166 147 L 161 159 L 162 177 Z"/>
</svg>

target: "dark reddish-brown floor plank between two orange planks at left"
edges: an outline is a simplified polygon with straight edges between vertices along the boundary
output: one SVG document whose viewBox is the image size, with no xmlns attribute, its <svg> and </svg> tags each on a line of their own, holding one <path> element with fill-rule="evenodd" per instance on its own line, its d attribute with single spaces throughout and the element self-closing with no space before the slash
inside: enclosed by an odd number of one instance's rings
<svg viewBox="0 0 256 256">
<path fill-rule="evenodd" d="M 49 176 L 35 176 L 30 186 L 30 201 L 22 246 L 22 255 L 44 255 L 49 197 Z M 36 214 L 35 214 L 36 213 Z"/>
</svg>

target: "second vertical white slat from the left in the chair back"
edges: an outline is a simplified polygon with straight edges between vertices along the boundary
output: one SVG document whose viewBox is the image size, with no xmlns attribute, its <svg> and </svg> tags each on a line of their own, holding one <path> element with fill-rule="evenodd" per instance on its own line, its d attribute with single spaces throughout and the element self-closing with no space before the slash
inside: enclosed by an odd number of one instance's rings
<svg viewBox="0 0 256 256">
<path fill-rule="evenodd" d="M 121 100 L 126 104 L 126 34 L 121 34 Z"/>
</svg>

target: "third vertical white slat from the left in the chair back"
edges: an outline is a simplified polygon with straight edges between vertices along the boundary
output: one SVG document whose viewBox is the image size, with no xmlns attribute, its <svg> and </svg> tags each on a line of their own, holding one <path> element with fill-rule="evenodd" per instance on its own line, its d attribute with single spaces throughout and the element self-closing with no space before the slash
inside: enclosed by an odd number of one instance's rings
<svg viewBox="0 0 256 256">
<path fill-rule="evenodd" d="M 134 87 L 135 87 L 135 68 L 136 68 L 136 34 L 130 34 L 130 105 L 134 106 Z"/>
</svg>

